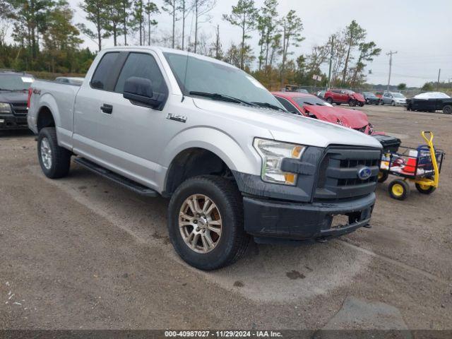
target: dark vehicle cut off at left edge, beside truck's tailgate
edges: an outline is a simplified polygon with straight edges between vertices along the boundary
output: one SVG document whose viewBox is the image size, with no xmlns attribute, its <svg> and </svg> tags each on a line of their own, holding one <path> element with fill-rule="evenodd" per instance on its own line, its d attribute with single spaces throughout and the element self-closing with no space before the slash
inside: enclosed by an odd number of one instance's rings
<svg viewBox="0 0 452 339">
<path fill-rule="evenodd" d="M 0 131 L 28 129 L 28 88 L 35 78 L 16 71 L 0 71 Z"/>
</svg>

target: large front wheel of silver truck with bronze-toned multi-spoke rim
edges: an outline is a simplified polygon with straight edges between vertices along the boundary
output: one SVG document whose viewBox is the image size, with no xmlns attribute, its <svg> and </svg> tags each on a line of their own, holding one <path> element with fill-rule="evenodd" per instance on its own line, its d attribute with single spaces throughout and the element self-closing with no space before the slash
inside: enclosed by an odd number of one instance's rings
<svg viewBox="0 0 452 339">
<path fill-rule="evenodd" d="M 212 204 L 215 206 L 209 215 L 204 210 L 208 203 L 206 198 L 212 202 L 207 210 Z M 194 205 L 194 199 L 198 206 Z M 212 221 L 216 221 L 215 225 L 210 225 Z M 209 227 L 216 227 L 220 233 Z M 168 231 L 177 254 L 189 265 L 200 270 L 228 266 L 244 255 L 250 239 L 244 231 L 242 194 L 233 182 L 222 177 L 207 175 L 187 179 L 169 202 Z M 212 246 L 207 246 L 210 245 L 208 239 Z"/>
</svg>

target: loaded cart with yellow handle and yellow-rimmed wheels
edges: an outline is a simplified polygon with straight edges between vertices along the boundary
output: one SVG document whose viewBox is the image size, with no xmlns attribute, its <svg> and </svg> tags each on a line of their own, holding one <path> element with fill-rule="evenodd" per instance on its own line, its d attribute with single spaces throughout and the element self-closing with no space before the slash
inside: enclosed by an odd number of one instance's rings
<svg viewBox="0 0 452 339">
<path fill-rule="evenodd" d="M 439 185 L 445 153 L 434 148 L 431 131 L 422 131 L 421 135 L 427 145 L 417 148 L 400 146 L 397 152 L 383 154 L 379 182 L 385 182 L 390 174 L 399 177 L 388 185 L 391 198 L 405 200 L 410 194 L 408 182 L 414 182 L 422 194 L 432 194 Z"/>
</svg>

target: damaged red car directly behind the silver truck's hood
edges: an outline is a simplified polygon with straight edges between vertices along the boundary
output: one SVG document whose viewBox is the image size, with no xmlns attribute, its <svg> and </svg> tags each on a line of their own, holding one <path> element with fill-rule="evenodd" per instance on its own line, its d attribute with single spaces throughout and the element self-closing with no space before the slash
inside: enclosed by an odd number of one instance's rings
<svg viewBox="0 0 452 339">
<path fill-rule="evenodd" d="M 350 129 L 369 135 L 384 134 L 374 132 L 374 127 L 369 123 L 367 115 L 361 111 L 334 107 L 310 94 L 296 92 L 274 92 L 272 94 L 289 112 L 350 127 Z"/>
</svg>

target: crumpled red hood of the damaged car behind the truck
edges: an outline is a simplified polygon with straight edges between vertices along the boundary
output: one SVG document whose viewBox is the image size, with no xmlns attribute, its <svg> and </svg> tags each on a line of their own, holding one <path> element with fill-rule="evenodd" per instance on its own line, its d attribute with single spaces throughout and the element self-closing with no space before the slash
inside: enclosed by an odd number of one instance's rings
<svg viewBox="0 0 452 339">
<path fill-rule="evenodd" d="M 328 107 L 319 105 L 304 105 L 307 112 L 314 114 L 317 119 L 328 121 L 333 124 L 342 124 L 351 129 L 361 129 L 369 124 L 367 115 L 354 109 L 345 109 L 339 107 Z"/>
</svg>

